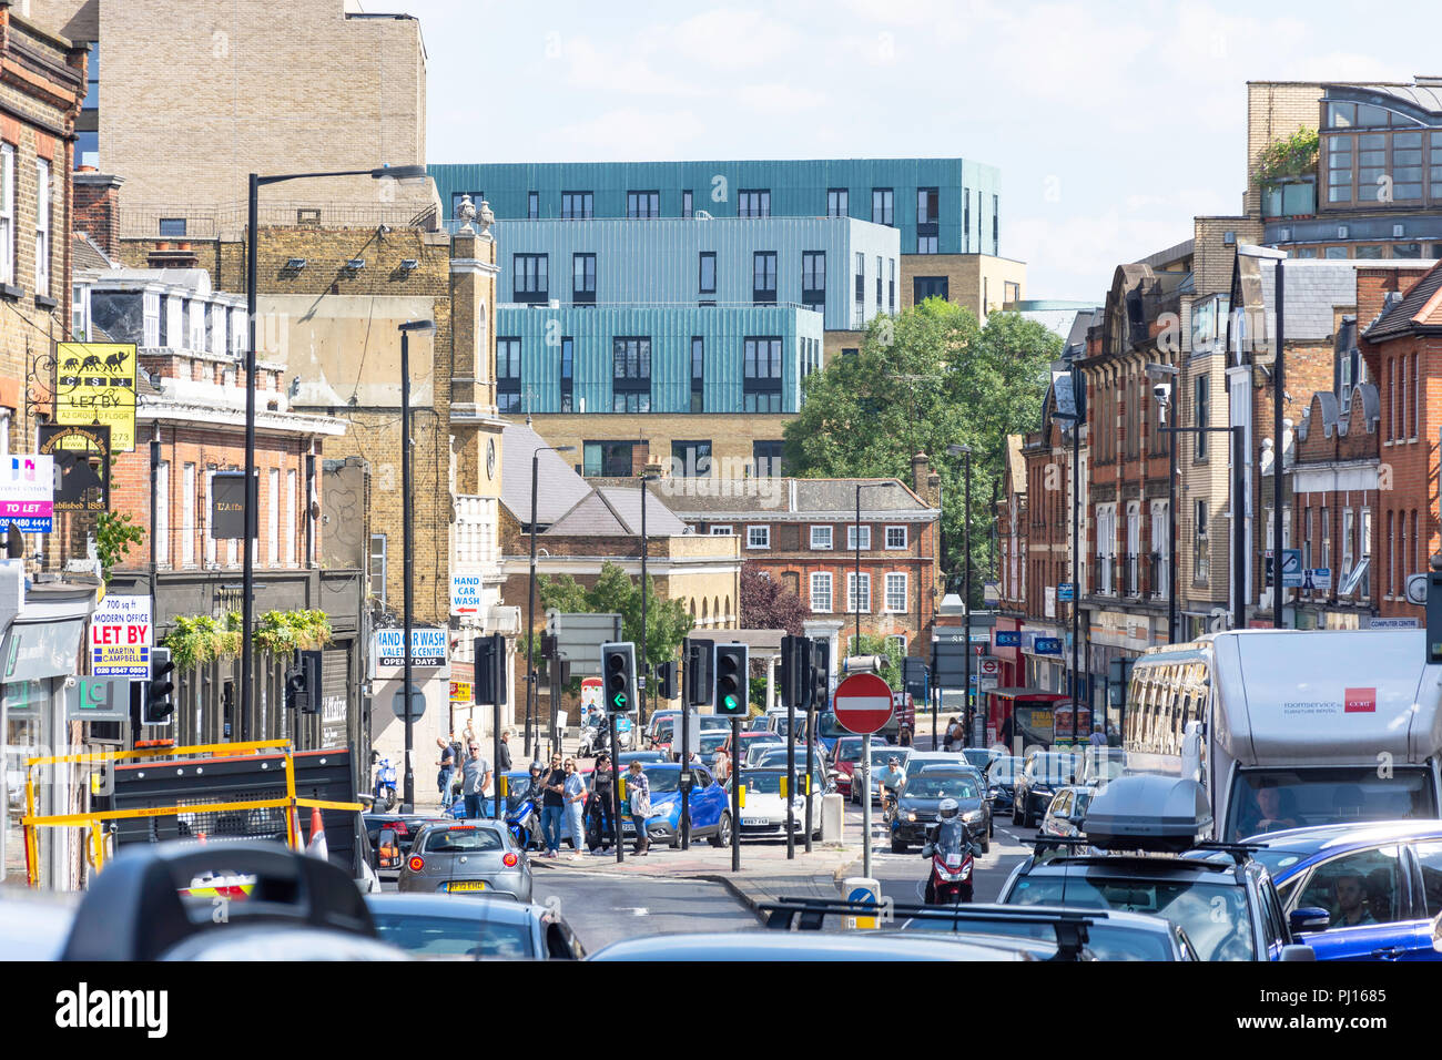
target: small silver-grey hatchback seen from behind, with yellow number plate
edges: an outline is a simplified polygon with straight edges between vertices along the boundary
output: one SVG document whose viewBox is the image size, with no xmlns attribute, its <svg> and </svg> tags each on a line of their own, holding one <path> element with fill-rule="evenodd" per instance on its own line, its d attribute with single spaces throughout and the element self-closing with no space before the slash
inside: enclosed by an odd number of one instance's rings
<svg viewBox="0 0 1442 1060">
<path fill-rule="evenodd" d="M 509 829 L 493 821 L 427 825 L 411 844 L 397 890 L 531 901 L 531 862 Z"/>
</svg>

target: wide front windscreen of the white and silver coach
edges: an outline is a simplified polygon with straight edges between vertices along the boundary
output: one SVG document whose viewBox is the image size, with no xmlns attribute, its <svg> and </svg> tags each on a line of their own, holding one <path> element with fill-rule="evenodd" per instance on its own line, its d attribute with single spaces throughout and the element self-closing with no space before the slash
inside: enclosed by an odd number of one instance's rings
<svg viewBox="0 0 1442 1060">
<path fill-rule="evenodd" d="M 1387 776 L 1379 776 L 1383 772 Z M 1229 803 L 1231 841 L 1309 825 L 1438 815 L 1430 773 L 1407 766 L 1240 770 L 1231 782 Z"/>
</svg>

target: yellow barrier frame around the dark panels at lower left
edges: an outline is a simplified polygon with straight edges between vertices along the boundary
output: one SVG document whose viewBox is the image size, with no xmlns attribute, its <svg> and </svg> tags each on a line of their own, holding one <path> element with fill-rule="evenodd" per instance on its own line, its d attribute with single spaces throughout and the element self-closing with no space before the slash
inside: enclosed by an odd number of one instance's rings
<svg viewBox="0 0 1442 1060">
<path fill-rule="evenodd" d="M 56 764 L 85 764 L 118 761 L 121 759 L 157 759 L 157 757 L 190 757 L 195 754 L 224 754 L 235 757 L 251 751 L 281 750 L 286 756 L 286 796 L 278 799 L 260 799 L 255 802 L 206 802 L 187 806 L 144 806 L 140 809 L 111 809 L 94 813 L 50 813 L 40 816 L 35 812 L 35 769 L 39 766 Z M 20 818 L 25 838 L 25 870 L 30 887 L 39 884 L 40 857 L 36 829 L 39 828 L 88 828 L 87 860 L 101 871 L 105 865 L 107 835 L 101 828 L 102 821 L 134 821 L 137 818 L 166 818 L 186 813 L 221 813 L 226 811 L 255 811 L 281 809 L 286 813 L 287 845 L 301 849 L 300 809 L 339 809 L 359 811 L 359 802 L 335 802 L 330 799 L 301 799 L 296 795 L 296 759 L 288 740 L 252 740 L 238 744 L 196 744 L 192 747 L 143 747 L 133 751 L 88 751 L 84 754 L 50 754 L 36 759 L 26 759 L 25 773 L 25 816 Z"/>
</svg>

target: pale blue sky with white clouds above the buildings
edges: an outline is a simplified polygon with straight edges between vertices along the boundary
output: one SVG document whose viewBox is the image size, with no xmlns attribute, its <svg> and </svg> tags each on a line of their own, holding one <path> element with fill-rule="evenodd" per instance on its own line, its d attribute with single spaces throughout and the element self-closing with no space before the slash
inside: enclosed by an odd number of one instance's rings
<svg viewBox="0 0 1442 1060">
<path fill-rule="evenodd" d="M 1031 299 L 1240 211 L 1249 79 L 1442 74 L 1442 4 L 358 1 L 421 20 L 428 162 L 975 159 Z"/>
</svg>

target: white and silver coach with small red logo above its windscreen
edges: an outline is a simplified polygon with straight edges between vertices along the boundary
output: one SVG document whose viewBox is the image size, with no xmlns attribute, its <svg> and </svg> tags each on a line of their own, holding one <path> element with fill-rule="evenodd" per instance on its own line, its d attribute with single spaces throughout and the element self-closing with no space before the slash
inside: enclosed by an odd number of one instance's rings
<svg viewBox="0 0 1442 1060">
<path fill-rule="evenodd" d="M 1436 818 L 1442 666 L 1422 630 L 1233 630 L 1146 650 L 1125 772 L 1193 774 L 1214 838 Z"/>
</svg>

